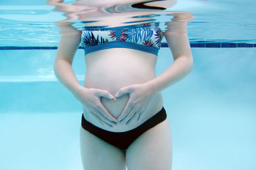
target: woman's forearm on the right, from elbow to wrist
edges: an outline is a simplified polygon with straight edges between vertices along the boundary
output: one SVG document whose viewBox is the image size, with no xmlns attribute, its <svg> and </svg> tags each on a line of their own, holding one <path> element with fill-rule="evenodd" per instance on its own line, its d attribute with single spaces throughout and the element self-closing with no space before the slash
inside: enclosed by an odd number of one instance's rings
<svg viewBox="0 0 256 170">
<path fill-rule="evenodd" d="M 148 81 L 148 85 L 152 87 L 154 92 L 161 92 L 161 90 L 170 87 L 177 81 L 184 78 L 193 68 L 193 60 L 182 56 L 174 60 L 171 66 L 156 78 Z"/>
</svg>

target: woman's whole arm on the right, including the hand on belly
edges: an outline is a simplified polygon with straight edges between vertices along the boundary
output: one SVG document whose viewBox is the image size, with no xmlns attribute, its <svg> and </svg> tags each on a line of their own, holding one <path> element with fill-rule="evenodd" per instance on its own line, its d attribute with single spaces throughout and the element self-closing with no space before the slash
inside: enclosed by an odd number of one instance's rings
<svg viewBox="0 0 256 170">
<path fill-rule="evenodd" d="M 187 22 L 168 22 L 164 37 L 172 50 L 174 62 L 162 74 L 143 84 L 129 85 L 116 92 L 116 97 L 129 94 L 130 98 L 124 111 L 118 117 L 118 121 L 126 124 L 134 114 L 138 120 L 143 117 L 143 111 L 147 108 L 150 99 L 157 93 L 186 76 L 193 68 L 193 57 L 187 36 Z M 140 116 L 141 115 L 141 116 Z"/>
</svg>

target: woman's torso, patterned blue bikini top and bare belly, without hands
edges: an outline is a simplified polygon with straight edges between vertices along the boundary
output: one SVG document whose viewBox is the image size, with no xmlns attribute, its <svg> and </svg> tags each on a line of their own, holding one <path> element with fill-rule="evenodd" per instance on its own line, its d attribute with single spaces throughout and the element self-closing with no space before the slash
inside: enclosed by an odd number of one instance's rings
<svg viewBox="0 0 256 170">
<path fill-rule="evenodd" d="M 145 26 L 146 25 L 146 26 Z M 155 23 L 144 24 L 145 27 L 122 27 L 115 31 L 93 31 L 82 34 L 82 42 L 86 60 L 86 76 L 84 87 L 108 90 L 113 96 L 122 88 L 133 84 L 145 83 L 156 77 L 155 68 L 157 62 L 156 49 L 161 46 L 163 32 Z M 119 32 L 119 33 L 118 33 Z M 98 37 L 99 36 L 99 37 Z M 103 38 L 103 39 L 102 39 Z M 106 39 L 105 39 L 106 38 Z M 99 39 L 99 40 L 98 40 Z M 103 41 L 102 41 L 103 40 Z M 99 50 L 100 45 L 108 45 L 106 42 L 114 41 L 118 48 Z M 102 43 L 102 44 L 101 44 Z M 100 44 L 99 46 L 95 46 Z M 114 46 L 115 46 L 114 45 Z M 123 48 L 124 45 L 130 48 Z M 93 47 L 91 47 L 93 46 Z M 150 47 L 154 46 L 154 47 Z M 88 49 L 96 49 L 89 52 Z M 135 50 L 136 48 L 140 50 Z M 154 50 L 152 50 L 152 48 Z M 150 52 L 148 50 L 151 50 Z M 101 98 L 102 104 L 114 117 L 118 117 L 125 108 L 129 99 L 128 94 L 114 100 Z M 147 109 L 143 112 L 140 122 L 131 121 L 131 124 L 120 124 L 113 127 L 102 125 L 91 114 L 84 114 L 86 120 L 107 131 L 124 132 L 138 127 L 140 124 L 155 115 L 163 107 L 161 92 L 155 94 Z M 86 111 L 83 109 L 84 113 Z"/>
</svg>

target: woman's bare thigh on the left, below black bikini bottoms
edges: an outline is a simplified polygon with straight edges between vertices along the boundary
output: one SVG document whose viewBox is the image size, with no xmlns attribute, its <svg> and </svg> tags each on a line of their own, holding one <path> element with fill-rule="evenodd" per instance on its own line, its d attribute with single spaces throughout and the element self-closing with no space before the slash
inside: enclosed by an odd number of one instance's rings
<svg viewBox="0 0 256 170">
<path fill-rule="evenodd" d="M 84 170 L 125 170 L 125 153 L 80 127 Z"/>
</svg>

